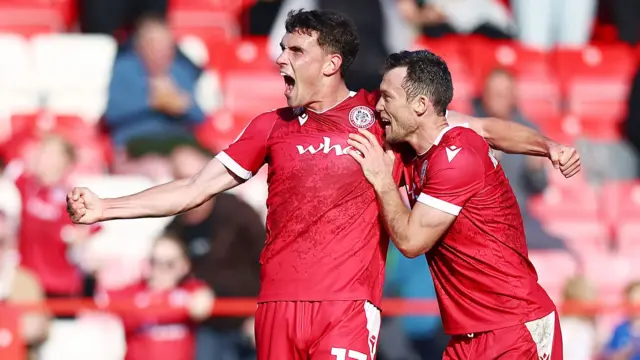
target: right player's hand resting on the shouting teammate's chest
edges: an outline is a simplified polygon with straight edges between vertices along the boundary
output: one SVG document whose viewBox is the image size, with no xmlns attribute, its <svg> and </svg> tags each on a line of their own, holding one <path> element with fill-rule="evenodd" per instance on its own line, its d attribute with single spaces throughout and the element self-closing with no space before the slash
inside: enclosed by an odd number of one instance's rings
<svg viewBox="0 0 640 360">
<path fill-rule="evenodd" d="M 376 189 L 396 187 L 393 181 L 395 155 L 385 149 L 369 131 L 359 129 L 360 134 L 349 134 L 347 143 L 352 147 L 348 154 L 362 167 L 364 176 Z"/>
</svg>

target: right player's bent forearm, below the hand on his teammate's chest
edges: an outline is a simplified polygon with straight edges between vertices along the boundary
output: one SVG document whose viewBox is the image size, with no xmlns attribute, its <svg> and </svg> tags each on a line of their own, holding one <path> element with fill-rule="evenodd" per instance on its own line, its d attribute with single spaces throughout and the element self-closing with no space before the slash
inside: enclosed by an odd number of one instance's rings
<svg viewBox="0 0 640 360">
<path fill-rule="evenodd" d="M 420 255 L 416 253 L 417 244 L 412 241 L 410 236 L 409 220 L 411 211 L 405 206 L 396 186 L 391 183 L 388 186 L 378 188 L 376 189 L 376 195 L 380 202 L 382 218 L 391 241 L 407 257 Z"/>
</svg>

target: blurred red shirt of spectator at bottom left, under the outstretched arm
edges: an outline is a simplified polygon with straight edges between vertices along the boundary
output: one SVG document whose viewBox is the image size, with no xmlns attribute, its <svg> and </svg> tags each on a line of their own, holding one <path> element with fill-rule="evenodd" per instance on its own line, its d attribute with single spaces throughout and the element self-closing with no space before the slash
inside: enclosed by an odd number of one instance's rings
<svg viewBox="0 0 640 360">
<path fill-rule="evenodd" d="M 152 292 L 145 282 L 109 292 L 107 299 L 118 306 L 130 304 L 139 313 L 122 314 L 127 343 L 125 360 L 192 360 L 195 356 L 195 326 L 186 311 L 188 295 L 206 285 L 189 278 L 178 287 Z M 103 298 L 104 299 L 104 298 Z M 165 307 L 156 313 L 145 313 L 147 307 Z"/>
</svg>

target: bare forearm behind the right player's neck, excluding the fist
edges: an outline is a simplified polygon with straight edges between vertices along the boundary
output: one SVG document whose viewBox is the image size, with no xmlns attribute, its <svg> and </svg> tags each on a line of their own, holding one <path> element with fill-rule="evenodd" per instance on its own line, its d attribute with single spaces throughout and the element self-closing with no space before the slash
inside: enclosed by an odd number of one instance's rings
<svg viewBox="0 0 640 360">
<path fill-rule="evenodd" d="M 510 154 L 548 157 L 555 144 L 530 127 L 497 118 L 482 120 L 481 135 L 492 148 Z"/>
</svg>

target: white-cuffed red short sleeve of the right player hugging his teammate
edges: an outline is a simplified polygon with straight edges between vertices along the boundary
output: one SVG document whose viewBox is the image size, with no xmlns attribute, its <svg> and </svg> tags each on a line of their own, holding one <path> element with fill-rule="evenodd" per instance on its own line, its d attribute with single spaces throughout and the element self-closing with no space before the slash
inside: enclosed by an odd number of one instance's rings
<svg viewBox="0 0 640 360">
<path fill-rule="evenodd" d="M 464 146 L 440 147 L 430 162 L 418 202 L 457 216 L 484 186 L 484 163 Z"/>
</svg>

